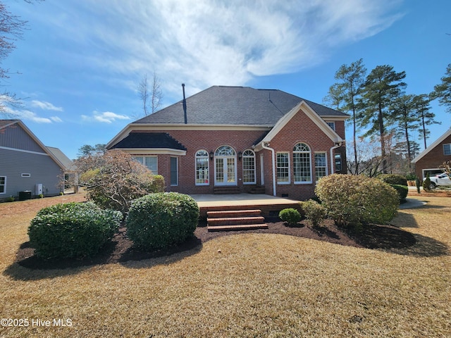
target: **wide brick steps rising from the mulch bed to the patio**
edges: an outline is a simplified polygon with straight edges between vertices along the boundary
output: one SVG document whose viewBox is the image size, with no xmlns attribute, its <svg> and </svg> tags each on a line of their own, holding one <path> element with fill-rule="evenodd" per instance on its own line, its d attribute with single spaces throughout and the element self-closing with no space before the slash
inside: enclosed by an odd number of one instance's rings
<svg viewBox="0 0 451 338">
<path fill-rule="evenodd" d="M 267 229 L 261 210 L 208 211 L 206 213 L 208 231 Z"/>
</svg>

